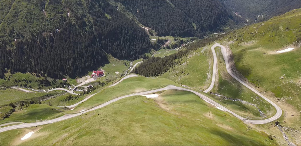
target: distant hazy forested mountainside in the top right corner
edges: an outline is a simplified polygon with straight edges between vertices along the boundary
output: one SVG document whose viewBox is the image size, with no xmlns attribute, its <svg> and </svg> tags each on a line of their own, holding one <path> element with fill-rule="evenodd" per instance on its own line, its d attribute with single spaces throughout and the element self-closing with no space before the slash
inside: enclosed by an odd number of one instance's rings
<svg viewBox="0 0 301 146">
<path fill-rule="evenodd" d="M 248 19 L 249 23 L 266 21 L 274 16 L 301 8 L 300 0 L 221 0 L 225 6 L 237 12 L 237 17 Z M 247 20 L 246 20 L 247 21 Z"/>
</svg>

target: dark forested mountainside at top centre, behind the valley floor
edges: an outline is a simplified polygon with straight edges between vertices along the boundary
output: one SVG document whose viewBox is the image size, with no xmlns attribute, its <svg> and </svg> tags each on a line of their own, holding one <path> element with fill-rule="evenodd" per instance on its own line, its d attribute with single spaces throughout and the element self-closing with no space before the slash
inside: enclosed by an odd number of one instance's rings
<svg viewBox="0 0 301 146">
<path fill-rule="evenodd" d="M 158 35 L 203 37 L 221 31 L 231 20 L 219 0 L 118 1 Z M 233 22 L 232 22 L 233 23 Z"/>
</svg>

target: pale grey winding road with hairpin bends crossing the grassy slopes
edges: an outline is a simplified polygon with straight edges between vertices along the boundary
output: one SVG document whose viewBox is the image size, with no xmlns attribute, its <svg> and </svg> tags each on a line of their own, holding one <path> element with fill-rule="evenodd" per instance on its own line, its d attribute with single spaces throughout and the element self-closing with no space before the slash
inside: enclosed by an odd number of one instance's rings
<svg viewBox="0 0 301 146">
<path fill-rule="evenodd" d="M 241 84 L 243 84 L 244 86 L 246 86 L 247 88 L 249 88 L 250 90 L 252 90 L 253 92 L 255 92 L 256 94 L 258 94 L 260 97 L 262 97 L 263 99 L 265 99 L 266 101 L 268 101 L 269 103 L 271 103 L 277 110 L 276 114 L 271 117 L 271 118 L 268 118 L 268 119 L 264 119 L 264 120 L 248 120 L 244 117 L 241 117 L 240 115 L 230 111 L 229 109 L 225 108 L 224 106 L 220 105 L 219 103 L 213 101 L 212 99 L 210 99 L 209 97 L 199 93 L 199 92 L 196 92 L 194 90 L 190 90 L 190 89 L 187 89 L 187 88 L 182 88 L 182 87 L 176 87 L 176 86 L 167 86 L 167 87 L 163 87 L 163 88 L 160 88 L 160 89 L 156 89 L 156 90 L 150 90 L 150 91 L 145 91 L 145 92 L 139 92 L 139 93 L 133 93 L 133 94 L 130 94 L 130 95 L 126 95 L 126 96 L 121 96 L 121 97 L 118 97 L 118 98 L 115 98 L 115 99 L 112 99 L 108 102 L 105 102 L 101 105 L 98 105 L 97 107 L 94 107 L 94 108 L 91 108 L 87 111 L 83 111 L 83 112 L 80 112 L 80 113 L 77 113 L 77 114 L 71 114 L 71 115 L 66 115 L 66 116 L 63 116 L 63 117 L 58 117 L 58 118 L 55 118 L 55 119 L 52 119 L 52 120 L 47 120 L 47 121 L 42 121 L 42 122 L 36 122 L 36 123 L 24 123 L 24 124 L 21 124 L 21 125 L 13 125 L 13 126 L 8 126 L 8 127 L 4 127 L 4 128 L 0 128 L 0 132 L 4 132 L 4 131 L 8 131 L 8 130 L 12 130 L 12 129 L 19 129 L 19 128 L 26 128 L 26 127 L 32 127 L 32 126 L 39 126 L 39 125 L 44 125 L 44 124 L 49 124 L 49 123 L 53 123 L 53 122 L 58 122 L 58 121 L 62 121 L 62 120 L 66 120 L 66 119 L 70 119 L 72 117 L 76 117 L 76 116 L 79 116 L 81 114 L 85 114 L 89 111 L 93 111 L 93 110 L 96 110 L 96 109 L 99 109 L 99 108 L 102 108 L 106 105 L 109 105 L 113 102 L 116 102 L 120 99 L 123 99 L 123 98 L 126 98 L 126 97 L 130 97 L 130 96 L 138 96 L 138 95 L 145 95 L 145 94 L 150 94 L 150 93 L 155 93 L 155 92 L 159 92 L 159 91 L 164 91 L 164 90 L 183 90 L 183 91 L 189 91 L 189 92 L 192 92 L 194 94 L 196 94 L 197 96 L 199 96 L 200 98 L 202 98 L 203 100 L 205 100 L 206 102 L 209 102 L 213 105 L 215 105 L 216 107 L 219 107 L 221 108 L 222 110 L 224 111 L 227 111 L 231 114 L 233 114 L 235 117 L 239 118 L 240 120 L 243 120 L 245 122 L 248 122 L 248 123 L 252 123 L 252 124 L 265 124 L 265 123 L 270 123 L 274 120 L 277 120 L 279 117 L 281 117 L 281 114 L 282 114 L 282 110 L 281 108 L 278 107 L 278 105 L 276 105 L 274 102 L 272 102 L 271 100 L 269 100 L 268 98 L 266 98 L 265 96 L 263 96 L 261 93 L 259 93 L 257 90 L 253 89 L 252 87 L 250 87 L 249 85 L 247 85 L 246 83 L 244 83 L 243 81 L 241 81 L 239 78 L 237 78 L 231 71 L 231 68 L 230 68 L 230 63 L 228 61 L 228 54 L 227 54 L 227 51 L 226 51 L 226 48 L 220 44 L 214 44 L 212 47 L 211 47 L 211 50 L 213 51 L 213 79 L 212 79 L 212 82 L 209 86 L 209 88 L 213 88 L 213 85 L 214 85 L 214 81 L 215 81 L 215 74 L 216 74 L 216 68 L 217 68 L 217 59 L 216 59 L 216 53 L 215 53 L 215 50 L 214 48 L 215 47 L 221 47 L 222 49 L 222 54 L 223 54 L 223 57 L 225 59 L 225 64 L 226 64 L 226 68 L 227 68 L 227 71 L 228 73 L 233 77 L 235 78 L 237 81 L 239 81 Z M 215 70 L 215 71 L 214 71 Z M 129 77 L 128 77 L 129 76 Z M 124 78 L 122 78 L 120 81 L 117 82 L 117 84 L 121 81 L 123 81 L 124 79 L 126 78 L 130 78 L 130 77 L 136 77 L 138 75 L 128 75 Z M 110 87 L 112 86 L 115 86 L 115 84 L 111 85 Z M 211 90 L 210 89 L 210 90 Z M 209 92 L 210 90 L 205 90 L 206 92 Z M 96 94 L 96 93 L 95 93 Z M 90 97 L 92 97 L 93 95 L 95 94 L 92 94 Z M 76 106 L 76 105 L 75 105 Z"/>
</svg>

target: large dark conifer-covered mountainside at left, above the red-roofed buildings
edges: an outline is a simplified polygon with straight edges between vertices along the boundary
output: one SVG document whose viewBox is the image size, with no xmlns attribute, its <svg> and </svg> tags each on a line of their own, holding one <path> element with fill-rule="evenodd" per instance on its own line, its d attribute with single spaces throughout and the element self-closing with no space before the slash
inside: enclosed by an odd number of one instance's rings
<svg viewBox="0 0 301 146">
<path fill-rule="evenodd" d="M 151 42 L 144 29 L 107 0 L 2 0 L 0 78 L 34 72 L 79 75 L 118 59 L 138 59 Z"/>
</svg>

